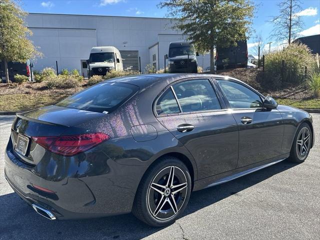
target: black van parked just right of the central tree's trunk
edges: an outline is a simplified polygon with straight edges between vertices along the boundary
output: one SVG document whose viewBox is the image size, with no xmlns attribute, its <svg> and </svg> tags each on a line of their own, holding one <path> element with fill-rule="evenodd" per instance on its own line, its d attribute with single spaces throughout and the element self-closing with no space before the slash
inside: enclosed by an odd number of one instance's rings
<svg viewBox="0 0 320 240">
<path fill-rule="evenodd" d="M 236 46 L 216 47 L 216 69 L 247 67 L 248 48 L 246 41 L 237 41 Z"/>
</svg>

